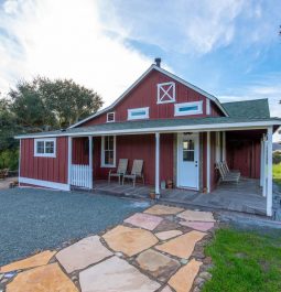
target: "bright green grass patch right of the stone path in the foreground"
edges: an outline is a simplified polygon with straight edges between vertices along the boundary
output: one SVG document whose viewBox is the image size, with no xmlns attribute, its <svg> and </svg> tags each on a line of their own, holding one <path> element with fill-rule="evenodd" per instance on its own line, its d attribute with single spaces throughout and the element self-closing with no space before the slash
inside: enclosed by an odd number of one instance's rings
<svg viewBox="0 0 281 292">
<path fill-rule="evenodd" d="M 281 291 L 281 231 L 218 229 L 205 252 L 214 268 L 203 292 Z"/>
</svg>

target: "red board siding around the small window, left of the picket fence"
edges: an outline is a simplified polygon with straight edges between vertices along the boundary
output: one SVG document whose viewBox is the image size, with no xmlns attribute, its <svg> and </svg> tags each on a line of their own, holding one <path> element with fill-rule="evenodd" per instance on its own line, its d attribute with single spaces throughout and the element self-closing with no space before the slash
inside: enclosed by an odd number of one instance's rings
<svg viewBox="0 0 281 292">
<path fill-rule="evenodd" d="M 35 158 L 34 139 L 21 140 L 22 177 L 67 183 L 67 138 L 56 138 L 56 158 Z"/>
</svg>

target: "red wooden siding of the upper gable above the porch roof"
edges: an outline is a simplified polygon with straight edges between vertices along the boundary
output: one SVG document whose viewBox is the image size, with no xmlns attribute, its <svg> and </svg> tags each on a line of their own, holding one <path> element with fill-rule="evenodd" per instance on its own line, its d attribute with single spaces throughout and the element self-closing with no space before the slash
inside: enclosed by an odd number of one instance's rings
<svg viewBox="0 0 281 292">
<path fill-rule="evenodd" d="M 175 94 L 176 100 L 171 104 L 160 104 L 158 105 L 158 88 L 156 85 L 160 83 L 175 83 Z M 174 117 L 174 104 L 187 102 L 187 101 L 197 101 L 203 100 L 203 113 L 194 116 L 183 116 Z M 125 97 L 112 110 L 116 112 L 116 121 L 127 121 L 128 109 L 130 108 L 150 108 L 150 119 L 169 119 L 169 118 L 199 118 L 206 117 L 206 97 L 196 93 L 195 90 L 184 86 L 183 84 L 171 79 L 166 75 L 152 71 L 133 90 Z M 217 108 L 217 106 L 212 101 L 210 102 L 210 116 L 221 116 L 223 113 Z M 105 123 L 107 121 L 107 113 L 102 113 L 97 118 L 94 118 L 83 126 L 91 126 Z"/>
</svg>

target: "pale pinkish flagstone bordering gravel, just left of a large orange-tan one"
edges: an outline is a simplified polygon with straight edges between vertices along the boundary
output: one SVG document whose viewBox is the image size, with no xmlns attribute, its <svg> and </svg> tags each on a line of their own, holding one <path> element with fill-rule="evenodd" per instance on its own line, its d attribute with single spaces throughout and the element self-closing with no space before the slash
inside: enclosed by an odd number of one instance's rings
<svg viewBox="0 0 281 292">
<path fill-rule="evenodd" d="M 109 256 L 112 252 L 104 247 L 99 236 L 90 236 L 57 252 L 56 258 L 71 273 L 94 264 Z"/>
</svg>

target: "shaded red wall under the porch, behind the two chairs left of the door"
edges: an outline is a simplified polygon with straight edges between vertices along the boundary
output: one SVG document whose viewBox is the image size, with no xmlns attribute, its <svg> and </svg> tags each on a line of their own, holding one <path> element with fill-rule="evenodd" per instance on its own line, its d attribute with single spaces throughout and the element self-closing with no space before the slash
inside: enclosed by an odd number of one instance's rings
<svg viewBox="0 0 281 292">
<path fill-rule="evenodd" d="M 161 134 L 160 137 L 160 179 L 173 179 L 173 139 L 174 134 Z M 84 139 L 73 140 L 73 163 L 88 163 L 88 153 L 84 151 Z M 94 138 L 94 180 L 107 180 L 110 169 L 101 167 L 101 138 Z M 134 159 L 143 160 L 143 173 L 145 184 L 153 185 L 155 180 L 155 136 L 117 136 L 116 137 L 116 161 L 129 159 L 128 171 L 132 167 Z"/>
</svg>

